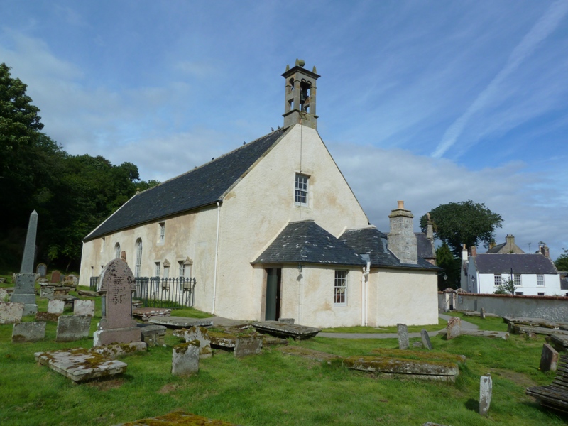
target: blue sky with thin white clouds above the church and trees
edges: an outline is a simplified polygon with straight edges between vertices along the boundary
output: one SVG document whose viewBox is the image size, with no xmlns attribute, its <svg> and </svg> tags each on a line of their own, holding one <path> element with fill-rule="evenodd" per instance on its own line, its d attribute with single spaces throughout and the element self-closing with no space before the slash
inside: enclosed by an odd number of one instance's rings
<svg viewBox="0 0 568 426">
<path fill-rule="evenodd" d="M 72 154 L 166 180 L 282 125 L 295 58 L 373 224 L 396 200 L 503 215 L 497 241 L 568 248 L 568 0 L 13 1 L 0 62 Z"/>
</svg>

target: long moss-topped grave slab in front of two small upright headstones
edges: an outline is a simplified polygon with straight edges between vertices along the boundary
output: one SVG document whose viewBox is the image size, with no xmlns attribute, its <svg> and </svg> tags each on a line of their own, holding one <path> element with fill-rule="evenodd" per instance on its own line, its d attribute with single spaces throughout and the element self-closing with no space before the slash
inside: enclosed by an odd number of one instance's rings
<svg viewBox="0 0 568 426">
<path fill-rule="evenodd" d="M 436 381 L 454 382 L 459 374 L 457 364 L 443 361 L 416 361 L 382 356 L 349 356 L 344 366 L 352 370 L 373 371 L 388 375 L 402 375 Z"/>
</svg>

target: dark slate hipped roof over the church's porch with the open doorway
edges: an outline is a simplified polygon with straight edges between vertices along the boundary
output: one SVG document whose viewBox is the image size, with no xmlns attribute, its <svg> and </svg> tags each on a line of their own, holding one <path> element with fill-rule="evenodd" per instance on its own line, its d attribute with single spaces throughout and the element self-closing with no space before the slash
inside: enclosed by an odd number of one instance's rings
<svg viewBox="0 0 568 426">
<path fill-rule="evenodd" d="M 343 241 L 313 220 L 290 222 L 253 263 L 327 263 L 364 266 Z"/>
</svg>

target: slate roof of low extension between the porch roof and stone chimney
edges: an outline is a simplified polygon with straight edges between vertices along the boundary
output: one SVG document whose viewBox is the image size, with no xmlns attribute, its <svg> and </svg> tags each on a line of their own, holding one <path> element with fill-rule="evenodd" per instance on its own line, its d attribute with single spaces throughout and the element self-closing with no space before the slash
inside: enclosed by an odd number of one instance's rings
<svg viewBox="0 0 568 426">
<path fill-rule="evenodd" d="M 400 263 L 398 257 L 396 257 L 387 246 L 387 236 L 381 231 L 372 228 L 364 229 L 348 229 L 342 236 L 339 237 L 344 243 L 346 243 L 353 251 L 358 254 L 368 253 L 369 258 L 371 258 L 371 266 L 389 266 L 389 267 L 401 267 L 401 268 L 420 268 L 420 269 L 439 269 L 437 266 L 432 265 L 432 263 L 425 261 L 420 256 L 418 257 L 418 263 Z"/>
</svg>

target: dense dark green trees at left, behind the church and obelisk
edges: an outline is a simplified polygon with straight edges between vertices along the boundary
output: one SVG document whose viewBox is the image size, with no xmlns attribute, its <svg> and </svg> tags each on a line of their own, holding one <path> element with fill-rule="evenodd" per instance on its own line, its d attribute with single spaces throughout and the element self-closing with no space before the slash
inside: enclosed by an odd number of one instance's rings
<svg viewBox="0 0 568 426">
<path fill-rule="evenodd" d="M 69 155 L 41 133 L 39 109 L 26 84 L 0 64 L 0 266 L 16 271 L 30 213 L 39 214 L 36 261 L 79 267 L 82 239 L 136 190 L 141 181 L 132 163 L 113 165 L 101 156 Z"/>
</svg>

